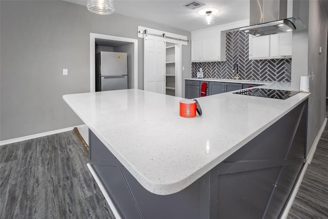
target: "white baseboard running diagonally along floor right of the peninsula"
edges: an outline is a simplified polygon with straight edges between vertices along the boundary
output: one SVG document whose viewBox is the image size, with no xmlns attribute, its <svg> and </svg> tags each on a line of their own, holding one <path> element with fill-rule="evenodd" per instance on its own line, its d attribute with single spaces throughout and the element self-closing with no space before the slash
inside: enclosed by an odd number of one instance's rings
<svg viewBox="0 0 328 219">
<path fill-rule="evenodd" d="M 310 149 L 310 152 L 309 152 L 308 156 L 306 156 L 306 163 L 304 164 L 304 167 L 302 169 L 302 172 L 299 175 L 299 178 L 297 180 L 297 183 L 295 185 L 295 188 L 294 188 L 294 190 L 293 190 L 293 192 L 292 192 L 292 194 L 291 194 L 291 196 L 289 198 L 289 201 L 288 201 L 288 203 L 287 203 L 287 205 L 286 205 L 286 207 L 285 207 L 285 209 L 283 211 L 283 214 L 281 216 L 282 219 L 287 218 L 287 216 L 289 214 L 289 211 L 291 210 L 291 207 L 292 207 L 292 205 L 294 203 L 294 200 L 295 200 L 295 197 L 297 195 L 298 189 L 301 186 L 301 183 L 303 181 L 303 177 L 305 175 L 306 169 L 308 169 L 309 164 L 311 164 L 313 155 L 316 152 L 316 149 L 317 149 L 317 146 L 318 146 L 320 137 L 322 135 L 322 132 L 323 132 L 326 124 L 327 124 L 327 118 L 324 119 L 324 121 L 322 123 L 322 126 L 321 126 L 321 128 L 320 128 L 320 130 L 319 130 L 319 132 L 317 134 L 317 137 L 316 137 L 316 139 L 314 140 L 314 142 L 312 144 L 312 147 Z"/>
</svg>

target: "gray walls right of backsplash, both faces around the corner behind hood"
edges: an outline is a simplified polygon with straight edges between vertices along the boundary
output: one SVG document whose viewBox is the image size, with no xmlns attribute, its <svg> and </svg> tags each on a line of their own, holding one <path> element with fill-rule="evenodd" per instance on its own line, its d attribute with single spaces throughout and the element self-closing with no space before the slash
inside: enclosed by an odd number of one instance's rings
<svg viewBox="0 0 328 219">
<path fill-rule="evenodd" d="M 307 30 L 293 33 L 292 87 L 299 89 L 301 75 L 310 78 L 308 117 L 309 153 L 325 118 L 327 29 L 328 22 L 319 0 L 293 1 L 293 16 L 299 16 Z M 322 47 L 322 53 L 319 53 Z"/>
</svg>

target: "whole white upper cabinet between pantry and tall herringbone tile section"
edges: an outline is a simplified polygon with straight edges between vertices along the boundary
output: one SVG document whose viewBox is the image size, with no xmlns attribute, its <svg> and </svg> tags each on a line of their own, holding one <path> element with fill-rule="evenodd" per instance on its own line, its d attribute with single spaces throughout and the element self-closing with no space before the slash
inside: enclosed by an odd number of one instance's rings
<svg viewBox="0 0 328 219">
<path fill-rule="evenodd" d="M 219 28 L 192 32 L 191 61 L 226 61 L 226 33 Z"/>
</svg>

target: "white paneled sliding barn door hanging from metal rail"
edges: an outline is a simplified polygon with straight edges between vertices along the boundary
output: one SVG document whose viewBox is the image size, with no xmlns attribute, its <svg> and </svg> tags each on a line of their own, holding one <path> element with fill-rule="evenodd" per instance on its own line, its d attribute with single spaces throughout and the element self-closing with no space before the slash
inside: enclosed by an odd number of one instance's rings
<svg viewBox="0 0 328 219">
<path fill-rule="evenodd" d="M 144 90 L 165 94 L 166 44 L 163 37 L 144 38 Z"/>
</svg>

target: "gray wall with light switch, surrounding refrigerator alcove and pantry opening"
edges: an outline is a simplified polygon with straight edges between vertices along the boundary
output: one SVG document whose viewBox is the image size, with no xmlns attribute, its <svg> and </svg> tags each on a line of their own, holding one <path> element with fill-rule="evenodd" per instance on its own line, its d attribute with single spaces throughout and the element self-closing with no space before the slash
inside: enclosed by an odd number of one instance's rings
<svg viewBox="0 0 328 219">
<path fill-rule="evenodd" d="M 138 88 L 144 55 L 137 26 L 187 31 L 119 14 L 97 15 L 63 1 L 0 1 L 0 141 L 83 124 L 63 101 L 90 91 L 90 32 L 138 39 Z M 182 78 L 191 77 L 190 44 Z M 68 68 L 68 76 L 63 76 Z"/>
</svg>

